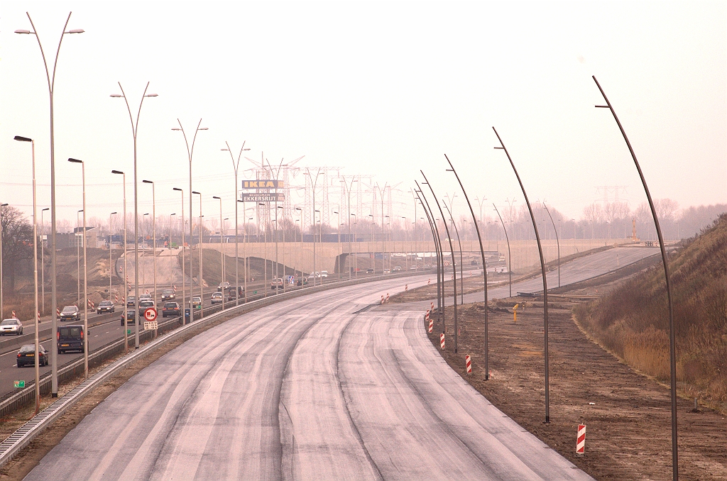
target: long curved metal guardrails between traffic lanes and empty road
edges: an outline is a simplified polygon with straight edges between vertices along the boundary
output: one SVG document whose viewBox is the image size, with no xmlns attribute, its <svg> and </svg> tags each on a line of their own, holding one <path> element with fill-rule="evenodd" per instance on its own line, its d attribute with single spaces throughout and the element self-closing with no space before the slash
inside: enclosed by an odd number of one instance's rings
<svg viewBox="0 0 727 481">
<path fill-rule="evenodd" d="M 154 350 L 158 349 L 159 347 L 163 347 L 170 342 L 180 339 L 180 337 L 182 336 L 193 334 L 195 331 L 198 331 L 201 328 L 205 328 L 212 323 L 224 322 L 225 320 L 235 318 L 238 315 L 245 314 L 246 312 L 251 312 L 253 310 L 260 309 L 260 307 L 265 307 L 270 304 L 276 304 L 278 302 L 288 299 L 295 299 L 297 297 L 305 296 L 308 294 L 316 294 L 318 292 L 328 291 L 329 289 L 333 288 L 356 286 L 358 284 L 369 283 L 374 280 L 403 278 L 409 277 L 410 275 L 411 274 L 409 272 L 402 272 L 401 274 L 385 274 L 360 279 L 343 280 L 339 282 L 323 284 L 321 286 L 310 286 L 308 288 L 302 288 L 295 291 L 278 293 L 273 296 L 265 297 L 263 299 L 257 299 L 252 302 L 247 302 L 246 304 L 241 304 L 237 307 L 230 307 L 229 309 L 225 309 L 222 312 L 215 312 L 212 315 L 207 315 L 204 318 L 193 320 L 192 322 L 176 329 L 173 325 L 180 325 L 179 318 L 174 318 L 174 320 L 162 323 L 158 326 L 157 334 L 160 334 L 160 331 L 162 331 L 162 329 L 171 329 L 172 331 L 168 332 L 167 334 L 163 334 L 162 336 L 158 336 L 156 339 L 153 339 L 147 344 L 140 346 L 139 349 L 134 350 L 133 352 L 129 352 L 129 354 L 124 355 L 123 357 L 120 357 L 107 367 L 103 368 L 101 371 L 95 373 L 93 376 L 90 376 L 89 379 L 81 382 L 81 384 L 71 389 L 71 391 L 67 392 L 63 397 L 59 397 L 58 400 L 55 401 L 55 403 L 52 403 L 43 411 L 34 416 L 33 419 L 23 424 L 22 427 L 12 433 L 6 440 L 0 442 L 0 466 L 3 466 L 5 463 L 10 461 L 12 457 L 15 456 L 15 454 L 17 454 L 20 450 L 25 448 L 25 446 L 28 445 L 34 437 L 43 432 L 43 430 L 49 427 L 53 423 L 53 421 L 55 421 L 55 419 L 57 419 L 59 416 L 62 416 L 65 411 L 78 403 L 79 400 L 87 396 L 90 392 L 92 392 L 93 389 L 99 387 L 105 381 L 111 379 L 111 377 L 116 376 L 117 373 L 122 371 L 124 368 L 127 368 L 129 365 L 132 365 L 132 363 L 136 362 L 137 360 L 141 360 L 143 357 L 149 355 L 151 352 L 154 352 Z M 215 306 L 208 309 L 218 310 L 218 307 Z M 219 306 L 219 310 L 221 309 L 222 307 Z M 140 341 L 142 339 L 150 339 L 151 336 L 153 336 L 153 331 L 143 331 L 142 333 L 140 333 Z M 89 355 L 89 365 L 91 365 L 92 358 L 94 359 L 95 363 L 100 363 L 101 360 L 108 359 L 108 357 L 115 355 L 116 352 L 120 352 L 120 350 L 123 348 L 123 339 L 119 341 L 114 341 L 111 344 L 107 344 L 105 347 L 98 349 L 96 352 L 94 352 L 93 355 Z M 103 355 L 105 355 L 105 357 L 103 357 Z M 78 369 L 79 363 L 81 366 L 80 372 L 83 372 L 83 359 L 79 359 L 63 367 L 63 369 L 61 370 L 63 371 L 63 375 L 68 376 L 68 378 L 76 376 L 79 373 L 78 371 L 76 371 Z M 58 377 L 60 381 L 60 371 Z M 44 377 L 41 383 L 43 383 L 41 384 L 41 388 L 44 387 L 46 383 L 49 385 L 50 376 Z M 49 387 L 47 389 L 49 390 Z M 0 413 L 4 413 L 4 409 L 9 407 L 9 405 L 15 405 L 15 407 L 20 405 L 21 398 L 27 396 L 28 394 L 30 395 L 29 400 L 32 401 L 34 396 L 34 390 L 32 386 L 25 387 L 25 389 L 22 389 L 20 392 L 15 392 L 9 395 L 6 400 L 3 400 L 0 403 Z M 29 400 L 25 398 L 24 402 L 28 403 Z"/>
</svg>

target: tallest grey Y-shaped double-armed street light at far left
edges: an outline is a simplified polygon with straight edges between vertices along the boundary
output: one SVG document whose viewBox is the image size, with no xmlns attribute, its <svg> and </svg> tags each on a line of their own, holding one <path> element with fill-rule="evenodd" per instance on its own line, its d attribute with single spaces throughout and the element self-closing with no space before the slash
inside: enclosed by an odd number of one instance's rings
<svg viewBox="0 0 727 481">
<path fill-rule="evenodd" d="M 56 339 L 58 332 L 58 316 L 57 316 L 57 280 L 56 280 L 56 240 L 55 240 L 55 136 L 53 130 L 53 92 L 55 89 L 55 72 L 58 66 L 58 55 L 60 54 L 60 44 L 63 42 L 63 36 L 66 33 L 84 33 L 81 28 L 74 28 L 66 31 L 68 28 L 68 21 L 71 20 L 71 13 L 68 12 L 68 18 L 65 19 L 65 25 L 63 25 L 63 33 L 60 34 L 58 40 L 58 48 L 55 52 L 55 60 L 53 62 L 53 72 L 50 73 L 48 70 L 48 62 L 46 61 L 45 53 L 43 51 L 43 45 L 41 39 L 38 36 L 36 26 L 33 25 L 33 19 L 28 12 L 28 20 L 31 22 L 33 31 L 28 30 L 16 30 L 15 33 L 32 34 L 36 36 L 38 41 L 38 47 L 41 49 L 41 57 L 43 57 L 43 65 L 46 70 L 46 80 L 48 81 L 48 94 L 50 97 L 50 272 L 51 272 L 51 337 Z M 1 289 L 0 289 L 1 290 Z M 0 302 L 1 310 L 1 302 Z M 51 397 L 58 397 L 58 346 L 57 343 L 51 343 Z M 37 357 L 37 356 L 36 356 Z"/>
</svg>

